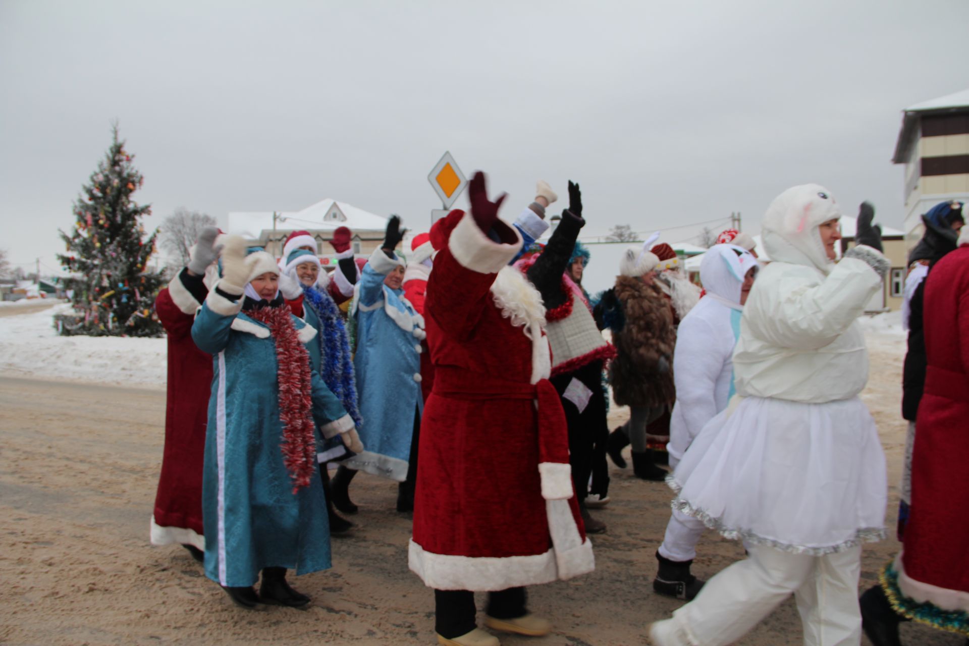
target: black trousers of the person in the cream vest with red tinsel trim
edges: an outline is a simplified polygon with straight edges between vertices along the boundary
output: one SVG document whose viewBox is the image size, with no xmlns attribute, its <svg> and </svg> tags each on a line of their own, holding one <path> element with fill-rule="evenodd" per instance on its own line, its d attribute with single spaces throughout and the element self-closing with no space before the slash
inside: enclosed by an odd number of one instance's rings
<svg viewBox="0 0 969 646">
<path fill-rule="evenodd" d="M 609 490 L 608 467 L 605 474 L 601 469 L 606 463 L 606 441 L 609 439 L 602 372 L 603 362 L 592 361 L 576 371 L 556 375 L 549 380 L 560 397 L 574 379 L 592 391 L 581 412 L 572 401 L 562 398 L 562 410 L 569 426 L 569 464 L 572 466 L 572 481 L 576 485 L 579 503 L 588 494 L 589 477 L 597 466 L 600 469 L 597 470 L 595 493 L 604 495 Z"/>
</svg>

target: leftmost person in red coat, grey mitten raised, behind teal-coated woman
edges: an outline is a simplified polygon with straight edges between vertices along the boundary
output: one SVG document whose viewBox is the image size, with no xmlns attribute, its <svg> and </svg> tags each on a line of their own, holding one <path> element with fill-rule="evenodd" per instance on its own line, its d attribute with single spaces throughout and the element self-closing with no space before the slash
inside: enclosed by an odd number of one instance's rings
<svg viewBox="0 0 969 646">
<path fill-rule="evenodd" d="M 200 563 L 205 549 L 202 471 L 212 356 L 196 347 L 192 322 L 208 294 L 204 279 L 206 270 L 214 270 L 218 234 L 214 227 L 202 232 L 188 266 L 155 298 L 155 313 L 169 337 L 169 369 L 165 451 L 151 516 L 151 544 L 179 543 Z"/>
</svg>

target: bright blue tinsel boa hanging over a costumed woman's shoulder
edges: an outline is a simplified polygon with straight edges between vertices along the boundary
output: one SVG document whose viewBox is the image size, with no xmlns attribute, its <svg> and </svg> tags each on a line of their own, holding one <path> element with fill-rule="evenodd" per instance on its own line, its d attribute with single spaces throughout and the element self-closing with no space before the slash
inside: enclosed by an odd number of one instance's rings
<svg viewBox="0 0 969 646">
<path fill-rule="evenodd" d="M 343 404 L 343 408 L 353 418 L 359 427 L 361 418 L 357 403 L 357 381 L 354 377 L 354 360 L 350 353 L 350 337 L 346 325 L 336 303 L 326 292 L 314 287 L 303 286 L 306 298 L 303 306 L 309 305 L 320 317 L 321 334 L 317 335 L 320 351 L 323 355 L 323 366 L 320 375 L 336 398 Z"/>
</svg>

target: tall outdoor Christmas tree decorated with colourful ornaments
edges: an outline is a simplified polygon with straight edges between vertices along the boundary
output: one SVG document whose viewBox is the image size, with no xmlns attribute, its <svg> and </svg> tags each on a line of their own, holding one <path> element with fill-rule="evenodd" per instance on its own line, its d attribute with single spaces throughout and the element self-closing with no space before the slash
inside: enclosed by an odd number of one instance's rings
<svg viewBox="0 0 969 646">
<path fill-rule="evenodd" d="M 148 270 L 157 231 L 142 239 L 141 218 L 151 214 L 151 206 L 139 206 L 131 199 L 144 181 L 132 165 L 133 158 L 114 126 L 108 154 L 75 202 L 74 231 L 70 235 L 60 231 L 67 253 L 58 254 L 58 259 L 72 274 L 65 289 L 75 310 L 54 317 L 61 334 L 161 336 L 163 332 L 153 307 L 163 279 Z"/>
</svg>

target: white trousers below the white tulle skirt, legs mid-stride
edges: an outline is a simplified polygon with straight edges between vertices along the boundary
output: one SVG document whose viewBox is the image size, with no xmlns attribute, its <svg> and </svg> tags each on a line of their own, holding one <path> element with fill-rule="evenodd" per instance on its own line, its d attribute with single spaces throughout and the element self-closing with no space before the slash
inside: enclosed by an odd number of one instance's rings
<svg viewBox="0 0 969 646">
<path fill-rule="evenodd" d="M 725 646 L 794 593 L 805 646 L 859 646 L 861 548 L 826 556 L 747 545 L 750 558 L 716 574 L 673 612 L 660 646 Z"/>
</svg>

